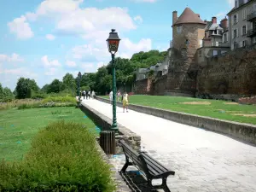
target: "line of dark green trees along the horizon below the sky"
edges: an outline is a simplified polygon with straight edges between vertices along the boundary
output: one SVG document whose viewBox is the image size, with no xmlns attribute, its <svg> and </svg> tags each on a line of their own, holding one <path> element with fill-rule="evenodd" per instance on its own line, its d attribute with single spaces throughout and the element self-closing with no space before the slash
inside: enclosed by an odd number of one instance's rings
<svg viewBox="0 0 256 192">
<path fill-rule="evenodd" d="M 131 86 L 135 82 L 137 68 L 148 68 L 162 62 L 166 55 L 166 51 L 150 50 L 136 53 L 131 56 L 131 59 L 117 57 L 114 61 L 117 87 Z M 82 73 L 81 90 L 95 90 L 98 94 L 109 92 L 112 89 L 112 69 L 112 63 L 108 62 L 106 66 L 98 68 L 96 73 Z M 73 74 L 66 73 L 61 80 L 54 79 L 50 84 L 44 84 L 42 89 L 39 89 L 34 79 L 20 78 L 14 93 L 16 98 L 23 99 L 31 98 L 33 95 L 36 96 L 41 93 L 59 93 L 63 90 L 67 90 L 71 94 L 77 92 L 79 87 L 78 77 L 74 78 Z M 3 88 L 2 84 L 0 84 L 0 102 L 13 99 L 14 93 L 8 88 Z M 3 97 L 7 99 L 4 100 Z"/>
</svg>

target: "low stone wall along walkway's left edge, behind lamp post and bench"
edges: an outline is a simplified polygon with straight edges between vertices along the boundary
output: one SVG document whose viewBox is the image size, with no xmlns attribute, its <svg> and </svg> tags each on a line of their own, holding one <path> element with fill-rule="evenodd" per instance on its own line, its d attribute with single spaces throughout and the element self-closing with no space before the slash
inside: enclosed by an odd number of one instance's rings
<svg viewBox="0 0 256 192">
<path fill-rule="evenodd" d="M 90 108 L 88 105 L 80 105 L 80 109 L 88 116 L 90 119 L 102 129 L 102 131 L 110 131 L 112 125 L 112 119 L 109 119 L 104 114 L 97 112 L 95 109 Z M 122 154 L 122 149 L 119 147 L 118 142 L 120 139 L 124 139 L 126 143 L 129 143 L 132 148 L 137 151 L 141 149 L 141 137 L 131 130 L 127 129 L 123 125 L 119 125 L 119 134 L 115 137 L 116 139 L 116 153 Z"/>
</svg>

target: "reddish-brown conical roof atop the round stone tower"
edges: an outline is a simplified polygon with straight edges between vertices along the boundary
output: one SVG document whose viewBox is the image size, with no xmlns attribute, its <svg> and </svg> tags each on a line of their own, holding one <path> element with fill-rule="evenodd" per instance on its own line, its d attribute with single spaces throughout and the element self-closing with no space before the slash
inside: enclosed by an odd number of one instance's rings
<svg viewBox="0 0 256 192">
<path fill-rule="evenodd" d="M 184 24 L 184 23 L 199 23 L 206 24 L 200 19 L 198 14 L 195 14 L 191 9 L 184 9 L 182 15 L 180 15 L 174 25 Z"/>
</svg>

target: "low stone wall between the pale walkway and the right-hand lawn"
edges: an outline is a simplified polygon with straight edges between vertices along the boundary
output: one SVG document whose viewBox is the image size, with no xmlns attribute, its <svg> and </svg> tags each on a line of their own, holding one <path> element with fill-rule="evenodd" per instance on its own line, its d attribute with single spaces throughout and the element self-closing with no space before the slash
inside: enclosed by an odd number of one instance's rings
<svg viewBox="0 0 256 192">
<path fill-rule="evenodd" d="M 96 99 L 101 102 L 109 102 L 108 99 L 102 97 L 96 97 Z M 122 103 L 117 102 L 117 106 L 122 107 Z M 256 144 L 256 125 L 241 124 L 228 120 L 213 119 L 195 114 L 178 113 L 160 108 L 149 108 L 133 104 L 129 105 L 129 108 L 140 113 L 154 115 L 177 123 L 204 128 L 209 131 L 217 131 L 241 141 Z"/>
</svg>

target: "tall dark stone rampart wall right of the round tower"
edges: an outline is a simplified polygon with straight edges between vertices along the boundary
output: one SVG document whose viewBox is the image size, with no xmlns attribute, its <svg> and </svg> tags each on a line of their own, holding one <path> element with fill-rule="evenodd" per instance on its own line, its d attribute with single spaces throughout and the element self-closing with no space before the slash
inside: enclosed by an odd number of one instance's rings
<svg viewBox="0 0 256 192">
<path fill-rule="evenodd" d="M 212 57 L 198 73 L 198 94 L 256 95 L 256 49 L 236 49 Z"/>
</svg>

